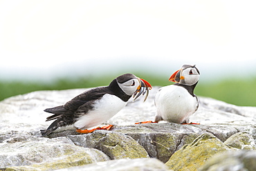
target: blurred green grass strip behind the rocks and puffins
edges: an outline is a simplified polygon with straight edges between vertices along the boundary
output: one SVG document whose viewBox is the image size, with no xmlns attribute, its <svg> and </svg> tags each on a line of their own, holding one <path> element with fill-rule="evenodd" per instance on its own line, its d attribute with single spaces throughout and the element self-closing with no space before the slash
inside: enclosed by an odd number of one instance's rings
<svg viewBox="0 0 256 171">
<path fill-rule="evenodd" d="M 154 77 L 147 74 L 136 74 L 146 79 L 152 86 L 167 86 L 170 84 L 166 78 Z M 57 79 L 52 83 L 0 81 L 0 101 L 17 94 L 25 94 L 37 90 L 65 90 L 71 88 L 92 88 L 106 86 L 113 79 L 111 75 L 95 78 Z M 227 103 L 244 106 L 256 106 L 256 78 L 247 81 L 225 80 L 216 83 L 199 81 L 195 94 L 203 97 L 212 97 Z"/>
</svg>

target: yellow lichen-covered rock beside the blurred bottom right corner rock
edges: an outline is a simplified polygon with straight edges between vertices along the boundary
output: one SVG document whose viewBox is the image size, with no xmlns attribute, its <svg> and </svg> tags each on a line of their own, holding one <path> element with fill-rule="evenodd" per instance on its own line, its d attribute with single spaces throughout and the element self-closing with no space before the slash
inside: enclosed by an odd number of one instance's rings
<svg viewBox="0 0 256 171">
<path fill-rule="evenodd" d="M 205 133 L 176 151 L 165 164 L 172 170 L 198 170 L 214 154 L 226 150 L 230 148 L 214 135 Z"/>
</svg>

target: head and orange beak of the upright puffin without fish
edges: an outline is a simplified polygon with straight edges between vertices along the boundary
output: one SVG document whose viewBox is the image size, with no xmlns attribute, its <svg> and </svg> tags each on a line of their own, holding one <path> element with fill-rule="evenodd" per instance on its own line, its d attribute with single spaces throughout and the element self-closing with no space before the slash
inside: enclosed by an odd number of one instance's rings
<svg viewBox="0 0 256 171">
<path fill-rule="evenodd" d="M 169 81 L 192 86 L 199 81 L 200 72 L 196 66 L 183 65 L 181 69 L 172 74 Z"/>
</svg>

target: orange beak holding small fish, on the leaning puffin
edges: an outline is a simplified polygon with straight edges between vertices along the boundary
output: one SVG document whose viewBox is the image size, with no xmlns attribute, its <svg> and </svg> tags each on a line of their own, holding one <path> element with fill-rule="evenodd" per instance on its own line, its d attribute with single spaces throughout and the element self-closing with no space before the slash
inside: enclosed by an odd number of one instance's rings
<svg viewBox="0 0 256 171">
<path fill-rule="evenodd" d="M 138 97 L 140 97 L 141 94 L 145 95 L 145 93 L 146 93 L 146 96 L 145 96 L 144 101 L 146 101 L 147 96 L 149 95 L 149 90 L 152 89 L 152 86 L 145 79 L 138 78 L 138 81 L 140 81 L 140 86 L 138 86 L 137 91 L 134 93 L 134 101 Z"/>
</svg>

